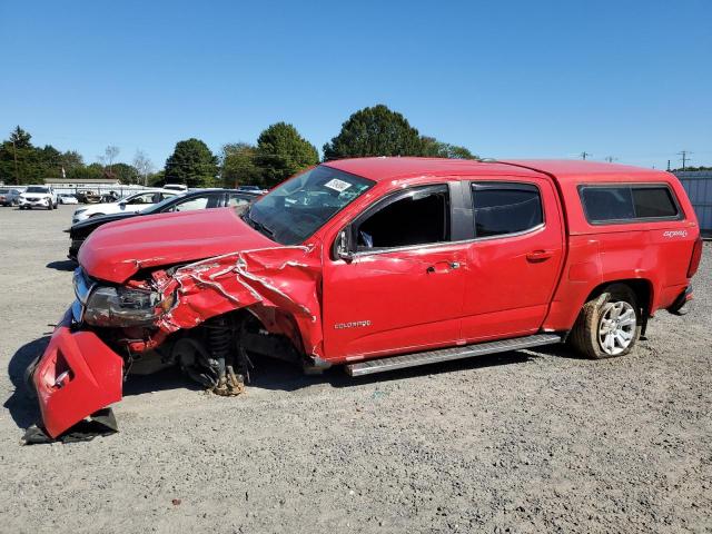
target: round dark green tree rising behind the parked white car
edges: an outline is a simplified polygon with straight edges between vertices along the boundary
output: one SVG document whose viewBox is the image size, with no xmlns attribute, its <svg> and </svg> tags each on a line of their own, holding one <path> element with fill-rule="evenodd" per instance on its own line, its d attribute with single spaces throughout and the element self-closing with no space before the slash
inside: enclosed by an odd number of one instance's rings
<svg viewBox="0 0 712 534">
<path fill-rule="evenodd" d="M 212 187 L 218 174 L 217 157 L 199 139 L 178 141 L 166 160 L 165 180 L 188 187 Z"/>
</svg>

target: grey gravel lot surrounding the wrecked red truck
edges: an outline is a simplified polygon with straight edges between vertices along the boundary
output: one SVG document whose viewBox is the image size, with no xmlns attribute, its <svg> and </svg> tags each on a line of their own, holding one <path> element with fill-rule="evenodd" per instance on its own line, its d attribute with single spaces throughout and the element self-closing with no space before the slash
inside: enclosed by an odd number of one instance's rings
<svg viewBox="0 0 712 534">
<path fill-rule="evenodd" d="M 20 446 L 21 374 L 72 300 L 71 206 L 0 208 L 0 532 L 710 532 L 712 247 L 634 355 L 508 353 L 246 396 L 132 377 L 120 432 Z"/>
</svg>

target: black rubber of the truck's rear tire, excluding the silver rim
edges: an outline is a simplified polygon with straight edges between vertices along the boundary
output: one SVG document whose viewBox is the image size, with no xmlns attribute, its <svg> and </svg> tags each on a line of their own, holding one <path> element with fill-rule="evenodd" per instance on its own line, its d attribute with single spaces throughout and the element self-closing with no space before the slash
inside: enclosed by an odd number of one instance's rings
<svg viewBox="0 0 712 534">
<path fill-rule="evenodd" d="M 603 308 L 603 305 L 610 301 L 620 300 L 625 300 L 633 306 L 633 309 L 635 309 L 635 329 L 631 344 L 621 354 L 612 355 L 605 353 L 603 348 L 601 348 L 601 344 L 599 343 L 599 323 L 601 322 L 601 309 Z M 587 358 L 617 358 L 620 356 L 625 356 L 633 349 L 635 343 L 637 343 L 637 339 L 641 336 L 641 309 L 637 305 L 635 294 L 625 284 L 612 284 L 603 289 L 601 295 L 584 304 L 583 308 L 581 308 L 581 314 L 578 314 L 578 318 L 571 330 L 568 340 L 576 352 Z"/>
</svg>

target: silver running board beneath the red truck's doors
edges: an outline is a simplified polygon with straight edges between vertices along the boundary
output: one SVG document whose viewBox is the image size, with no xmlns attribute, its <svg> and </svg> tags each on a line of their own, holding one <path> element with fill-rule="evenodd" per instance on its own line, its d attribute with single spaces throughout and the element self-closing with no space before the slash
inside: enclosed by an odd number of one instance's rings
<svg viewBox="0 0 712 534">
<path fill-rule="evenodd" d="M 438 348 L 426 353 L 404 354 L 389 358 L 376 358 L 367 362 L 358 362 L 346 366 L 346 372 L 352 376 L 373 375 L 385 370 L 403 369 L 418 365 L 435 364 L 438 362 L 449 362 L 452 359 L 468 358 L 471 356 L 482 356 L 485 354 L 505 353 L 507 350 L 520 350 L 522 348 L 538 347 L 541 345 L 553 345 L 561 343 L 562 336 L 557 334 L 535 334 L 526 337 L 515 337 L 513 339 L 502 339 L 500 342 L 478 343 L 463 347 Z"/>
</svg>

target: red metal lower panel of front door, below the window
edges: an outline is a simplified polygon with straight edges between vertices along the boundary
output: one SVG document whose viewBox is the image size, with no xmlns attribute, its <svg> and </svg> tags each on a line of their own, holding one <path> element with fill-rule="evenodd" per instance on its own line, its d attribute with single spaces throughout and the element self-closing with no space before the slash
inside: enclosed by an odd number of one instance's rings
<svg viewBox="0 0 712 534">
<path fill-rule="evenodd" d="M 453 268 L 453 264 L 457 264 Z M 327 260 L 326 357 L 358 358 L 455 344 L 465 284 L 464 246 Z"/>
</svg>

